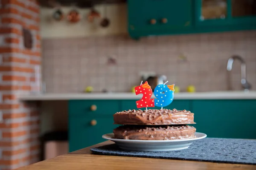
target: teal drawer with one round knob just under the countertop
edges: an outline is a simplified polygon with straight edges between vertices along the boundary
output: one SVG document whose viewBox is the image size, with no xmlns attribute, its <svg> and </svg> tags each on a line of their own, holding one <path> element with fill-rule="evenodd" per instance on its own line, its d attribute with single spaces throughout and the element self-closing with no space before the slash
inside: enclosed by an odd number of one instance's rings
<svg viewBox="0 0 256 170">
<path fill-rule="evenodd" d="M 120 109 L 117 100 L 70 100 L 68 110 L 70 116 L 112 116 Z"/>
</svg>

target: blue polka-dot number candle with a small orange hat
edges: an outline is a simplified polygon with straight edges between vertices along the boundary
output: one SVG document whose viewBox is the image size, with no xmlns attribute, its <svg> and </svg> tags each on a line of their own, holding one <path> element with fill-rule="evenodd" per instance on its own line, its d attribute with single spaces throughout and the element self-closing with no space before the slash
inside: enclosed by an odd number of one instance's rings
<svg viewBox="0 0 256 170">
<path fill-rule="evenodd" d="M 157 85 L 154 89 L 154 95 L 157 99 L 154 100 L 154 105 L 165 107 L 172 103 L 174 97 L 174 84 L 173 85 Z"/>
</svg>

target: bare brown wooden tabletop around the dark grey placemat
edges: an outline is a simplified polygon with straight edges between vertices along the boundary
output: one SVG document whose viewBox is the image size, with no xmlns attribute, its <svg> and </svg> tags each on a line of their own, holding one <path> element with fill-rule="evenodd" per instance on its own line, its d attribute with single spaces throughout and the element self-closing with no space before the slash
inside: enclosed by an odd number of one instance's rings
<svg viewBox="0 0 256 170">
<path fill-rule="evenodd" d="M 91 147 L 112 143 L 107 141 Z M 90 152 L 91 147 L 21 167 L 18 170 L 256 170 L 256 165 L 93 155 Z"/>
</svg>

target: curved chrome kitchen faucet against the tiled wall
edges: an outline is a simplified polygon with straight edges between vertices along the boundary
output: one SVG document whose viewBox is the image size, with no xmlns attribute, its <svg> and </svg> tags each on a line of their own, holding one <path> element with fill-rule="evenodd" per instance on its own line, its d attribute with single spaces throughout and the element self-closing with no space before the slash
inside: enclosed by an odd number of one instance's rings
<svg viewBox="0 0 256 170">
<path fill-rule="evenodd" d="M 242 57 L 238 55 L 230 57 L 227 61 L 227 71 L 232 70 L 232 65 L 235 59 L 238 59 L 241 62 L 241 85 L 244 88 L 244 91 L 248 91 L 251 88 L 251 85 L 247 82 L 246 79 L 246 64 Z"/>
</svg>

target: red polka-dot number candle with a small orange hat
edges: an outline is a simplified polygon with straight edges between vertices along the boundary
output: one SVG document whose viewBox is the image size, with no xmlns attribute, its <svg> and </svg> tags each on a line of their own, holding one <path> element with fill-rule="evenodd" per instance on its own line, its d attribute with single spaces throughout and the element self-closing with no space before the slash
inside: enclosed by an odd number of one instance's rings
<svg viewBox="0 0 256 170">
<path fill-rule="evenodd" d="M 135 89 L 135 94 L 143 94 L 142 98 L 136 101 L 137 108 L 148 108 L 154 107 L 154 99 L 151 99 L 152 89 L 148 82 L 145 82 L 143 85 L 137 86 Z"/>
</svg>

